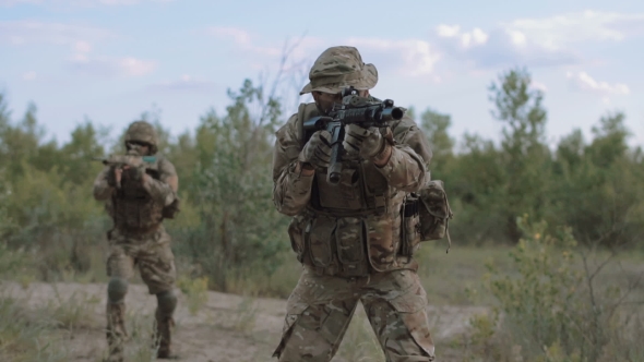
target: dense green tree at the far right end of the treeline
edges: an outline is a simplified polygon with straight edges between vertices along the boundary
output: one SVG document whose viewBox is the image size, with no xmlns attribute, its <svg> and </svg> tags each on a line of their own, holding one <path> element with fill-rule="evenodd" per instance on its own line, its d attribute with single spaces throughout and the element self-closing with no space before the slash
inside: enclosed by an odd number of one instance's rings
<svg viewBox="0 0 644 362">
<path fill-rule="evenodd" d="M 608 113 L 593 128 L 589 144 L 575 131 L 558 147 L 556 215 L 585 244 L 620 245 L 644 232 L 644 172 L 642 160 L 629 150 L 624 119 Z"/>
</svg>

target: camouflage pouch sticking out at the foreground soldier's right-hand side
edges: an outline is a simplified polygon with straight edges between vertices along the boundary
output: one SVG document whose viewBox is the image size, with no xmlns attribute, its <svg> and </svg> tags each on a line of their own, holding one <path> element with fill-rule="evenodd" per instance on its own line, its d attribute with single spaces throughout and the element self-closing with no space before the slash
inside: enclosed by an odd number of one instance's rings
<svg viewBox="0 0 644 362">
<path fill-rule="evenodd" d="M 452 240 L 448 230 L 450 219 L 454 216 L 448 202 L 448 194 L 441 180 L 428 181 L 418 193 L 418 216 L 420 217 L 420 240 L 439 240 L 448 236 L 450 248 Z M 448 252 L 450 251 L 448 248 Z"/>
</svg>

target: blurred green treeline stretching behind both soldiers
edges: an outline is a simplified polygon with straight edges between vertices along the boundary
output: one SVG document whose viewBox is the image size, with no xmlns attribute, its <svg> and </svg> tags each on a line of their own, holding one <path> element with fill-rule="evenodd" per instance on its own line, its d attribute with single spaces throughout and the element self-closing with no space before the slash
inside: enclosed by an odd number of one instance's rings
<svg viewBox="0 0 644 362">
<path fill-rule="evenodd" d="M 432 146 L 432 178 L 445 182 L 452 240 L 513 244 L 522 237 L 517 218 L 529 215 L 552 230 L 569 227 L 582 244 L 641 248 L 644 157 L 641 147 L 629 147 L 627 116 L 598 114 L 592 137 L 574 130 L 552 146 L 545 95 L 530 82 L 527 70 L 510 69 L 487 89 L 503 125 L 499 141 L 456 140 L 450 114 L 409 109 Z M 271 274 L 290 248 L 289 219 L 272 202 L 271 162 L 274 132 L 294 110 L 249 80 L 228 96 L 225 112 L 207 110 L 195 129 L 176 136 L 157 112 L 140 118 L 155 124 L 159 152 L 179 173 L 181 213 L 166 222 L 174 249 L 219 290 L 231 275 Z M 35 105 L 14 116 L 0 94 L 0 234 L 5 246 L 38 255 L 41 278 L 96 263 L 91 251 L 106 243 L 110 220 L 92 198 L 103 167 L 93 158 L 121 153 L 120 132 L 108 142 L 106 129 L 86 120 L 59 143 Z"/>
</svg>

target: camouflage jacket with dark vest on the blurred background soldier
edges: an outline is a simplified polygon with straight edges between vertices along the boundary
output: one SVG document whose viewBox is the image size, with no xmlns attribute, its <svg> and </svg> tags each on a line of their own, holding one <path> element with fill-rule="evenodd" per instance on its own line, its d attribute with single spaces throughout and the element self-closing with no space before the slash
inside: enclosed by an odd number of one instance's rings
<svg viewBox="0 0 644 362">
<path fill-rule="evenodd" d="M 175 166 L 164 157 L 146 168 L 151 180 L 123 182 L 120 190 L 109 185 L 112 168 L 106 166 L 94 181 L 94 197 L 105 201 L 106 209 L 121 233 L 145 234 L 156 230 L 167 209 L 178 202 L 178 177 Z"/>
</svg>

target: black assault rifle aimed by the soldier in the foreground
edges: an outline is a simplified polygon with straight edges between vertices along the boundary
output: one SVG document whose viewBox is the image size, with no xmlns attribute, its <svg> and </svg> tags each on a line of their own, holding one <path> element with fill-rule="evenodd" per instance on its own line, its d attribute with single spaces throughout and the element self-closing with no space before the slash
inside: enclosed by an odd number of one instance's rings
<svg viewBox="0 0 644 362">
<path fill-rule="evenodd" d="M 405 114 L 405 109 L 394 107 L 394 101 L 369 101 L 358 96 L 358 92 L 351 86 L 342 92 L 342 104 L 336 104 L 329 116 L 313 117 L 305 121 L 305 140 L 319 130 L 326 130 L 331 133 L 331 161 L 326 170 L 326 180 L 331 184 L 339 182 L 342 172 L 342 155 L 344 147 L 344 126 L 346 124 L 359 124 L 363 128 L 385 126 L 387 121 L 399 120 Z"/>
</svg>

